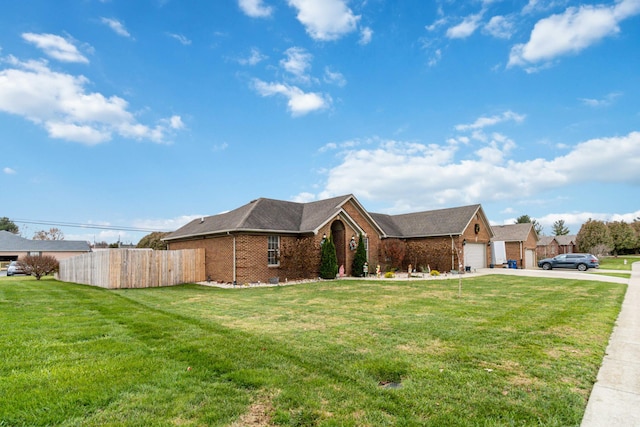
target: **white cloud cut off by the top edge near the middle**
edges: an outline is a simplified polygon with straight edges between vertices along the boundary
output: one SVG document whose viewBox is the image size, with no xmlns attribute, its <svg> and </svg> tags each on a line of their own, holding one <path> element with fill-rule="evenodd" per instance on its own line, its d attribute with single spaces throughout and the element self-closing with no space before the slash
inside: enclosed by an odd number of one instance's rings
<svg viewBox="0 0 640 427">
<path fill-rule="evenodd" d="M 337 40 L 355 31 L 360 16 L 344 0 L 288 0 L 298 10 L 298 21 L 315 40 Z"/>
</svg>

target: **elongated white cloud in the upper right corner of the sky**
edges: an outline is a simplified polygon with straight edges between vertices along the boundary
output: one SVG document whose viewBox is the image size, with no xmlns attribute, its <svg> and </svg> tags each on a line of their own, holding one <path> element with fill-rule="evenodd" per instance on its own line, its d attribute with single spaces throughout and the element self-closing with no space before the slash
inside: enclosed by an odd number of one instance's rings
<svg viewBox="0 0 640 427">
<path fill-rule="evenodd" d="M 536 23 L 529 41 L 512 47 L 508 66 L 529 66 L 578 53 L 620 31 L 618 24 L 640 13 L 640 1 L 570 7 Z"/>
</svg>

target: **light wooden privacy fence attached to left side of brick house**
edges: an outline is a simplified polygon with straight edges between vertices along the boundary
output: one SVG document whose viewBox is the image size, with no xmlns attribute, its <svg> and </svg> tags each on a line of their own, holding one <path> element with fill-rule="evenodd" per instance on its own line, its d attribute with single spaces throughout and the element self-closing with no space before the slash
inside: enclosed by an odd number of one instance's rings
<svg viewBox="0 0 640 427">
<path fill-rule="evenodd" d="M 204 249 L 110 249 L 60 261 L 58 278 L 106 289 L 153 288 L 205 280 Z"/>
</svg>

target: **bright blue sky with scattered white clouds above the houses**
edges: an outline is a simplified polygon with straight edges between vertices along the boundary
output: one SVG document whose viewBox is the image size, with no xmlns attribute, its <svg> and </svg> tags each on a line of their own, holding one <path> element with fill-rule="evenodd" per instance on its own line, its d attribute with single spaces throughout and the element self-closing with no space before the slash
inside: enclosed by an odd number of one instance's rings
<svg viewBox="0 0 640 427">
<path fill-rule="evenodd" d="M 4 2 L 0 216 L 174 230 L 353 193 L 575 233 L 640 216 L 639 100 L 640 0 Z"/>
</svg>

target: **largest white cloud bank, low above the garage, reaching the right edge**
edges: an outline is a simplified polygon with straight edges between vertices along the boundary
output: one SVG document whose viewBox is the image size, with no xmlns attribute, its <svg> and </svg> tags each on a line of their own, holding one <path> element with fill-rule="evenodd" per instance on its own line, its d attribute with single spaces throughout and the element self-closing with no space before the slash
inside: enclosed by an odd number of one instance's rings
<svg viewBox="0 0 640 427">
<path fill-rule="evenodd" d="M 464 160 L 456 160 L 455 144 L 383 141 L 344 150 L 319 198 L 354 193 L 415 209 L 514 200 L 579 182 L 640 185 L 640 132 L 585 141 L 551 160 L 506 159 L 513 145 L 494 135 L 487 150 Z"/>
</svg>

